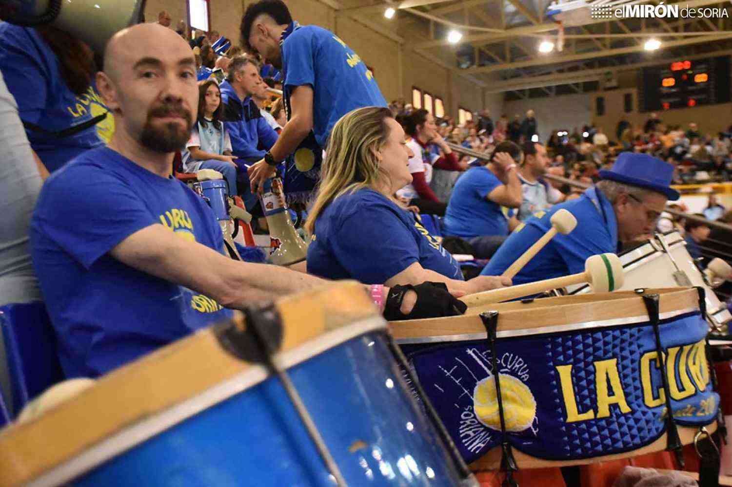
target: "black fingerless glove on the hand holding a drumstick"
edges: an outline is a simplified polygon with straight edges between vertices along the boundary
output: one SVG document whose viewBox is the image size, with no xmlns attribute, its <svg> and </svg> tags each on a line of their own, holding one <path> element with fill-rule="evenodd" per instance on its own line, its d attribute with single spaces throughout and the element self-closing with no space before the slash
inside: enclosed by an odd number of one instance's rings
<svg viewBox="0 0 732 487">
<path fill-rule="evenodd" d="M 404 295 L 409 290 L 417 292 L 417 303 L 414 304 L 411 313 L 403 314 L 400 308 Z M 386 297 L 386 306 L 384 306 L 384 318 L 395 321 L 455 316 L 465 313 L 466 309 L 468 309 L 466 303 L 453 297 L 447 291 L 447 285 L 444 282 L 423 282 L 417 286 L 407 284 L 390 288 L 389 295 Z"/>
</svg>

